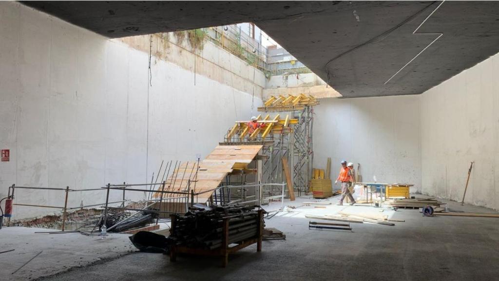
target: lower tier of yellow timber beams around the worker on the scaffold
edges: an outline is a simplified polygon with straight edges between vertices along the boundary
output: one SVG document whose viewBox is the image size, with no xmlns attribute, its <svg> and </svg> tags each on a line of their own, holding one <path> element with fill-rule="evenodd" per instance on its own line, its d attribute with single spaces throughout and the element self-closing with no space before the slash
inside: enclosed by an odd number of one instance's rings
<svg viewBox="0 0 499 281">
<path fill-rule="evenodd" d="M 251 140 L 258 138 L 258 136 L 264 139 L 271 133 L 292 132 L 290 125 L 298 123 L 298 119 L 290 118 L 289 115 L 286 115 L 285 118 L 283 119 L 281 119 L 280 117 L 281 117 L 280 114 L 275 115 L 271 119 L 270 119 L 270 114 L 267 114 L 264 117 L 258 115 L 256 117 L 257 118 L 256 122 L 259 125 L 263 126 L 256 128 L 251 134 L 250 134 L 250 127 L 248 126 L 250 120 L 236 121 L 234 126 L 232 126 L 227 132 L 227 139 L 230 141 L 230 139 L 235 135 L 239 135 L 240 139 L 248 137 Z"/>
</svg>

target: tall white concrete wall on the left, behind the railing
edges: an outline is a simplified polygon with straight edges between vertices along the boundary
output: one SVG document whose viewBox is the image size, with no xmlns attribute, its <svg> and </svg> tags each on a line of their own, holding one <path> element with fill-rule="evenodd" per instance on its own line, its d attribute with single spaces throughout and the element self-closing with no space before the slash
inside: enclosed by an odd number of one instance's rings
<svg viewBox="0 0 499 281">
<path fill-rule="evenodd" d="M 148 53 L 17 2 L 0 2 L 0 61 L 0 148 L 10 149 L 10 161 L 0 162 L 0 197 L 12 183 L 146 182 L 163 159 L 204 157 L 252 113 L 252 92 L 199 73 L 195 84 L 192 71 L 155 57 L 149 81 Z M 58 190 L 16 195 L 17 203 L 63 204 Z M 72 192 L 69 206 L 102 198 Z M 15 218 L 48 211 L 14 207 Z"/>
</svg>

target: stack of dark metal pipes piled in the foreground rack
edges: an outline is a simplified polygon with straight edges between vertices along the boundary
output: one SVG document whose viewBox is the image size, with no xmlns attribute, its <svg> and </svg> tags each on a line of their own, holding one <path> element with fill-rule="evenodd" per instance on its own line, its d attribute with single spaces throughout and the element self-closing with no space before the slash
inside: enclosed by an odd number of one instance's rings
<svg viewBox="0 0 499 281">
<path fill-rule="evenodd" d="M 191 210 L 183 216 L 175 215 L 169 240 L 191 248 L 219 248 L 223 242 L 224 218 L 229 220 L 229 244 L 255 237 L 258 232 L 258 212 L 255 207 L 217 206 L 209 210 Z"/>
</svg>

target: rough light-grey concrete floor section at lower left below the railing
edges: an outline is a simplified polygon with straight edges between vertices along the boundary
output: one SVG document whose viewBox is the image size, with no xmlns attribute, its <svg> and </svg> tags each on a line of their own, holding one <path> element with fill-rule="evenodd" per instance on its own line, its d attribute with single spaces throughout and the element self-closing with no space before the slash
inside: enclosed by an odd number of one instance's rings
<svg viewBox="0 0 499 281">
<path fill-rule="evenodd" d="M 40 276 L 101 262 L 135 251 L 129 235 L 110 233 L 106 238 L 80 233 L 35 233 L 45 228 L 3 227 L 0 229 L 0 280 L 29 280 Z M 60 231 L 60 230 L 54 230 Z M 12 274 L 22 264 L 36 258 Z"/>
</svg>

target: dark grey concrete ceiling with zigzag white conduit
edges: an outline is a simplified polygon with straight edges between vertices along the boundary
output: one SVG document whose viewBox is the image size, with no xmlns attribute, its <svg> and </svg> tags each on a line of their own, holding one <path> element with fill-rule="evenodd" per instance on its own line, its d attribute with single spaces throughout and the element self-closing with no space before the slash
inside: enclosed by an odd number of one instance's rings
<svg viewBox="0 0 499 281">
<path fill-rule="evenodd" d="M 107 37 L 251 21 L 345 97 L 419 94 L 499 51 L 498 1 L 22 3 Z"/>
</svg>

